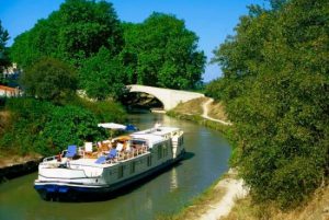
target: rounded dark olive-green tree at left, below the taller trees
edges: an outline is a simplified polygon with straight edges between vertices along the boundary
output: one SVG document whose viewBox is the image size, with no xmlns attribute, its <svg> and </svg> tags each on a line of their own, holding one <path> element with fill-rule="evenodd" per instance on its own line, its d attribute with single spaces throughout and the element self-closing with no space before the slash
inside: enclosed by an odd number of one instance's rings
<svg viewBox="0 0 329 220">
<path fill-rule="evenodd" d="M 54 58 L 43 58 L 26 69 L 21 82 L 27 95 L 54 102 L 59 102 L 77 89 L 76 72 Z"/>
</svg>

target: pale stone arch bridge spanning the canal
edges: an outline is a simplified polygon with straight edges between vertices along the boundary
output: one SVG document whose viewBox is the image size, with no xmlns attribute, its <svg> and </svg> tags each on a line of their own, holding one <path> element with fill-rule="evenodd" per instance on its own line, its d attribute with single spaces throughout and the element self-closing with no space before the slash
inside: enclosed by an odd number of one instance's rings
<svg viewBox="0 0 329 220">
<path fill-rule="evenodd" d="M 143 92 L 154 95 L 163 104 L 164 111 L 170 111 L 174 108 L 179 103 L 184 103 L 197 97 L 204 97 L 204 94 L 182 90 L 170 90 L 163 88 L 146 86 L 140 84 L 129 84 L 126 86 L 129 90 L 129 92 Z"/>
</svg>

